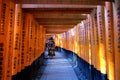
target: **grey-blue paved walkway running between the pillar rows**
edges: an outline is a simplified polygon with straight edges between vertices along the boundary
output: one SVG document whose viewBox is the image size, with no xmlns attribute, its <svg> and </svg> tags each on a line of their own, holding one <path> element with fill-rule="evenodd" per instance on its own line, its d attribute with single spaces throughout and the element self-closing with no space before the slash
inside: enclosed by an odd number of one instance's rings
<svg viewBox="0 0 120 80">
<path fill-rule="evenodd" d="M 72 65 L 59 52 L 52 59 L 48 58 L 45 65 L 43 75 L 35 80 L 78 80 Z"/>
</svg>

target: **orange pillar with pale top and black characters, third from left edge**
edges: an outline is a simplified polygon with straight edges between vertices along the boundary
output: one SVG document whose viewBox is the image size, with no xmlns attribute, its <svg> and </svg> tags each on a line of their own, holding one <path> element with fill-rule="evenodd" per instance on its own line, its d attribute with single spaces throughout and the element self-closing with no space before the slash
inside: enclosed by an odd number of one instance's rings
<svg viewBox="0 0 120 80">
<path fill-rule="evenodd" d="M 14 25 L 14 42 L 13 42 L 13 64 L 12 75 L 17 74 L 20 68 L 20 30 L 21 30 L 21 5 L 15 6 L 15 25 Z"/>
</svg>

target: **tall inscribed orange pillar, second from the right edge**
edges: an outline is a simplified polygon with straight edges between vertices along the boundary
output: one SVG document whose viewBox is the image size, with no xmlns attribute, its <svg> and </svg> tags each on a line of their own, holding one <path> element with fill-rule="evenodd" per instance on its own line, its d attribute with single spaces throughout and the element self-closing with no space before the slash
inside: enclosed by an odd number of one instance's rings
<svg viewBox="0 0 120 80">
<path fill-rule="evenodd" d="M 111 2 L 105 3 L 105 33 L 106 33 L 106 54 L 107 72 L 109 80 L 115 80 L 114 75 L 114 31 L 113 31 L 113 6 Z"/>
</svg>

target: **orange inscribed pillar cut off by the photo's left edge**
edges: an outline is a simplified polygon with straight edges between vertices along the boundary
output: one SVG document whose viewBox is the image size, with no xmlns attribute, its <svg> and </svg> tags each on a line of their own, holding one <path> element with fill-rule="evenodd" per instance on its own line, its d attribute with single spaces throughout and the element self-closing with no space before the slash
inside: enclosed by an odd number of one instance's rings
<svg viewBox="0 0 120 80">
<path fill-rule="evenodd" d="M 9 31 L 9 10 L 10 10 L 10 1 L 9 0 L 1 0 L 0 1 L 0 80 L 10 80 L 11 77 L 11 69 L 8 68 L 8 50 L 11 48 L 8 47 L 8 31 Z M 8 49 L 9 48 L 9 49 Z M 10 60 L 11 61 L 11 60 Z M 12 61 L 11 61 L 12 62 Z M 6 75 L 6 71 L 8 74 Z"/>
</svg>

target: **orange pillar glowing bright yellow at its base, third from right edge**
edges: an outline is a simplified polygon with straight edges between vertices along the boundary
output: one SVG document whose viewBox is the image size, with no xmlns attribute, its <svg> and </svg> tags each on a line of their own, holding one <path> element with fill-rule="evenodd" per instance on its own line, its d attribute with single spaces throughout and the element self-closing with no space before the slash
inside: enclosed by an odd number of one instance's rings
<svg viewBox="0 0 120 80">
<path fill-rule="evenodd" d="M 98 36 L 99 36 L 99 57 L 100 57 L 100 71 L 106 74 L 106 52 L 105 52 L 105 23 L 104 23 L 104 7 L 97 6 L 97 23 L 98 23 Z M 105 75 L 101 80 L 106 78 Z"/>
</svg>

